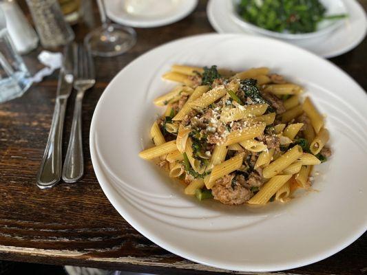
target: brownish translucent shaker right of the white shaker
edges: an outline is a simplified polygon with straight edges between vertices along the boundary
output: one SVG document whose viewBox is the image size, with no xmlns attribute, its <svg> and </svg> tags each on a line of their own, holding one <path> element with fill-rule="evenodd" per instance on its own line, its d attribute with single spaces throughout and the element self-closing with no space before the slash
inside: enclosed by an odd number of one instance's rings
<svg viewBox="0 0 367 275">
<path fill-rule="evenodd" d="M 59 47 L 74 40 L 74 32 L 57 0 L 27 0 L 27 3 L 43 47 Z"/>
</svg>

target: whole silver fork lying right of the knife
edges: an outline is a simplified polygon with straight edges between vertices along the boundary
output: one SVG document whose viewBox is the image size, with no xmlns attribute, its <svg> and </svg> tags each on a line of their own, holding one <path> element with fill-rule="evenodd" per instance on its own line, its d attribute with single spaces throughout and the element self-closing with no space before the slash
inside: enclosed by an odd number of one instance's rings
<svg viewBox="0 0 367 275">
<path fill-rule="evenodd" d="M 83 45 L 78 45 L 74 54 L 74 89 L 76 99 L 74 116 L 72 120 L 72 131 L 70 133 L 69 146 L 63 165 L 63 181 L 73 183 L 78 181 L 84 173 L 83 141 L 81 133 L 81 113 L 83 96 L 87 89 L 96 83 L 94 76 L 94 65 L 90 51 Z"/>
</svg>

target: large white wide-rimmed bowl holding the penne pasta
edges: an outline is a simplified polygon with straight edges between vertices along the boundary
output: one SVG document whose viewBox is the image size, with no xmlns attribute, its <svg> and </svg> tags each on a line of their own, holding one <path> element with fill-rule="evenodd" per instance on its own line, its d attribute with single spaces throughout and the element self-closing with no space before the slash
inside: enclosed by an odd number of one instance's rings
<svg viewBox="0 0 367 275">
<path fill-rule="evenodd" d="M 331 133 L 333 156 L 315 169 L 315 192 L 262 208 L 199 202 L 140 159 L 163 111 L 152 101 L 174 87 L 160 77 L 173 64 L 267 66 L 302 85 Z M 191 36 L 143 54 L 109 83 L 92 119 L 92 163 L 114 208 L 162 248 L 227 270 L 286 270 L 335 254 L 367 228 L 366 106 L 350 76 L 298 47 L 247 35 Z"/>
</svg>

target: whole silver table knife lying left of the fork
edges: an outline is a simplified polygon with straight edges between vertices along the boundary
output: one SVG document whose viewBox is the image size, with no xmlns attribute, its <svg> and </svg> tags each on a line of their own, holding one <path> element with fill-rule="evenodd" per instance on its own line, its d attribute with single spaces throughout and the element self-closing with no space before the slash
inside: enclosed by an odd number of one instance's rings
<svg viewBox="0 0 367 275">
<path fill-rule="evenodd" d="M 60 69 L 57 85 L 54 116 L 48 142 L 43 154 L 41 167 L 36 177 L 36 184 L 41 189 L 54 187 L 61 179 L 63 123 L 67 98 L 72 92 L 74 81 L 73 59 L 76 45 L 67 45 L 64 50 L 63 66 Z"/>
</svg>

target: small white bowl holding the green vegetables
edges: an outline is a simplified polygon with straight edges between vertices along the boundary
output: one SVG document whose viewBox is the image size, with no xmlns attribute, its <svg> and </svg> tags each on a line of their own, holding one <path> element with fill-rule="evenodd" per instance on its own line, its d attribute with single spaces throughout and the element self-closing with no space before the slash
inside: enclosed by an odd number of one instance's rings
<svg viewBox="0 0 367 275">
<path fill-rule="evenodd" d="M 284 40 L 304 40 L 304 39 L 315 39 L 317 37 L 327 36 L 337 28 L 339 28 L 344 22 L 344 19 L 339 20 L 323 20 L 317 24 L 317 30 L 315 32 L 308 32 L 304 34 L 291 34 L 289 32 L 273 32 L 271 30 L 266 30 L 260 28 L 253 23 L 249 23 L 240 17 L 237 12 L 237 6 L 240 0 L 229 1 L 229 12 L 231 14 L 231 19 L 238 24 L 242 29 L 262 34 L 265 36 L 271 36 L 276 39 Z M 320 2 L 326 8 L 326 15 L 333 14 L 348 14 L 348 10 L 343 3 L 343 0 L 320 0 Z"/>
</svg>

